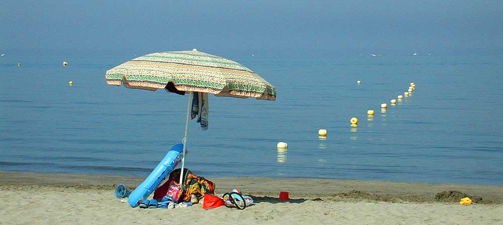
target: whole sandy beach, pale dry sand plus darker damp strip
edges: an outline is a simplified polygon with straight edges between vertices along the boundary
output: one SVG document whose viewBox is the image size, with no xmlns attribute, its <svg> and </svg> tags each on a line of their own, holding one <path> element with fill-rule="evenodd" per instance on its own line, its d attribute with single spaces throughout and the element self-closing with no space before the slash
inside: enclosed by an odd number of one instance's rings
<svg viewBox="0 0 503 225">
<path fill-rule="evenodd" d="M 503 186 L 230 177 L 208 179 L 216 193 L 238 187 L 256 204 L 139 209 L 115 198 L 117 184 L 142 179 L 0 172 L 0 224 L 503 224 Z M 279 201 L 279 191 L 296 199 Z M 460 193 L 478 203 L 460 205 Z"/>
</svg>

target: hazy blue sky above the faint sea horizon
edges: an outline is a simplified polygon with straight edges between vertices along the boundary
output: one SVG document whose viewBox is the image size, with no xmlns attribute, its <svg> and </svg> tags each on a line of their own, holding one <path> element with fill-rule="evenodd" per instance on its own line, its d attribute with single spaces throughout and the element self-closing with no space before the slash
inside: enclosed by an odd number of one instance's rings
<svg viewBox="0 0 503 225">
<path fill-rule="evenodd" d="M 500 53 L 503 1 L 6 1 L 0 52 Z"/>
</svg>

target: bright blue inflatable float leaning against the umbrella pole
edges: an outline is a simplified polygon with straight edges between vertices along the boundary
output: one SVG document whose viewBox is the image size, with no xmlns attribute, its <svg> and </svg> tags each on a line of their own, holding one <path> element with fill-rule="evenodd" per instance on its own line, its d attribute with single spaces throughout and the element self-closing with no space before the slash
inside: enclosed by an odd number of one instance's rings
<svg viewBox="0 0 503 225">
<path fill-rule="evenodd" d="M 159 183 L 182 161 L 183 148 L 183 144 L 173 146 L 152 173 L 148 175 L 147 179 L 129 194 L 128 202 L 131 207 L 137 207 L 146 199 L 157 188 Z"/>
</svg>

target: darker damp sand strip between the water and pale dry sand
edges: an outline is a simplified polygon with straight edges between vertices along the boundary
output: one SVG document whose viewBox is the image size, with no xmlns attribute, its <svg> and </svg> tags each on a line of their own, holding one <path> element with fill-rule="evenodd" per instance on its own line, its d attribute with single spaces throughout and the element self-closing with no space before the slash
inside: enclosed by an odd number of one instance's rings
<svg viewBox="0 0 503 225">
<path fill-rule="evenodd" d="M 287 191 L 292 198 L 323 200 L 379 200 L 387 202 L 456 202 L 458 191 L 476 198 L 478 203 L 503 203 L 503 186 L 467 184 L 431 184 L 368 180 L 219 177 L 207 179 L 215 183 L 215 193 L 239 188 L 257 197 L 278 197 Z M 23 186 L 74 187 L 78 189 L 113 190 L 118 184 L 134 188 L 145 177 L 105 174 L 28 173 L 0 171 L 1 188 Z M 439 195 L 445 196 L 439 196 Z M 451 192 L 450 194 L 447 192 Z M 111 192 L 112 193 L 112 192 Z M 460 193 L 457 193 L 458 195 Z"/>
</svg>

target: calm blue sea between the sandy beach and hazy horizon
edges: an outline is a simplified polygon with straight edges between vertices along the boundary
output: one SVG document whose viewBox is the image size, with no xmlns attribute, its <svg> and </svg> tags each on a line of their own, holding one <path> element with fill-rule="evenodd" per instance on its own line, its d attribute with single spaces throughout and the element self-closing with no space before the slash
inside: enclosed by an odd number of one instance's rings
<svg viewBox="0 0 503 225">
<path fill-rule="evenodd" d="M 97 55 L 0 58 L 0 170 L 147 176 L 181 142 L 187 96 L 107 85 L 135 56 Z M 209 130 L 190 123 L 197 175 L 503 185 L 501 56 L 229 58 L 278 98 L 210 96 Z"/>
</svg>

